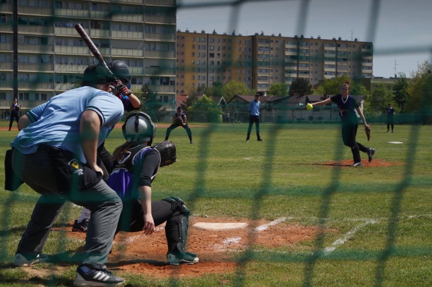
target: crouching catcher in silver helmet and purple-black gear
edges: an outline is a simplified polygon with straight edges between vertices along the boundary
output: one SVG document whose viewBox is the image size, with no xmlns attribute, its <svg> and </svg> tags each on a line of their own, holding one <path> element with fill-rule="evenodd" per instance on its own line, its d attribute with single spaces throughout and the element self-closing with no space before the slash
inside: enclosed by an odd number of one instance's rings
<svg viewBox="0 0 432 287">
<path fill-rule="evenodd" d="M 107 184 L 123 201 L 117 231 L 144 231 L 150 235 L 164 222 L 169 264 L 194 264 L 196 254 L 185 251 L 189 211 L 177 197 L 152 201 L 152 181 L 160 165 L 159 152 L 151 147 L 156 125 L 143 112 L 132 113 L 122 127 L 126 143 L 116 148 Z"/>
</svg>

